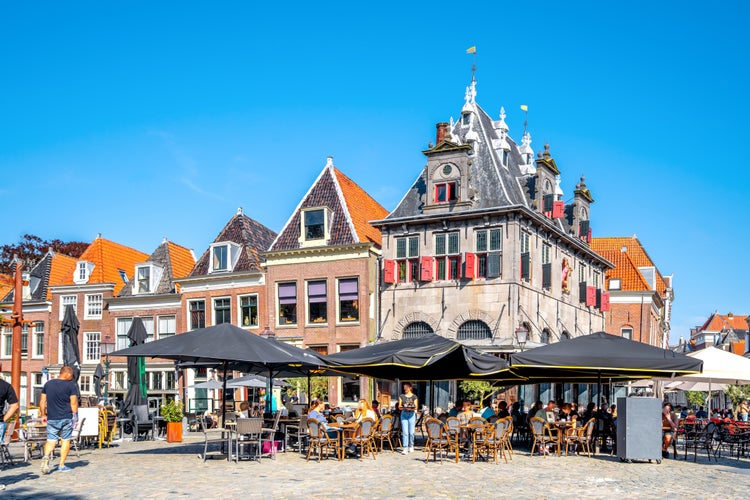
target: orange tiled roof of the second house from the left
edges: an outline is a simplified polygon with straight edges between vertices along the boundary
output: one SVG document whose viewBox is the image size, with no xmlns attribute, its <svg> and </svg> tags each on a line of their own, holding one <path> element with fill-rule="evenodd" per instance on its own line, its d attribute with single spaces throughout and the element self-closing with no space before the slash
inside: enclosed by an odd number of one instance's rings
<svg viewBox="0 0 750 500">
<path fill-rule="evenodd" d="M 91 262 L 94 265 L 88 283 L 114 283 L 113 294 L 117 295 L 126 282 L 133 277 L 135 265 L 147 258 L 148 254 L 139 250 L 97 236 L 77 260 Z M 59 284 L 75 285 L 74 273 L 75 268 Z M 121 273 L 124 273 L 128 280 L 123 280 Z"/>
</svg>

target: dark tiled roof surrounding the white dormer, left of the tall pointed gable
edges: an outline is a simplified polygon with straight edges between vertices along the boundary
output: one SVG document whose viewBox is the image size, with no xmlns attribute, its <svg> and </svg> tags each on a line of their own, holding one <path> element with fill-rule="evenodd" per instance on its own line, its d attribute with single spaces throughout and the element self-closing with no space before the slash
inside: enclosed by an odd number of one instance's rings
<svg viewBox="0 0 750 500">
<path fill-rule="evenodd" d="M 232 272 L 250 272 L 262 271 L 262 253 L 268 249 L 275 237 L 274 231 L 243 214 L 240 209 L 227 222 L 227 225 L 224 226 L 224 229 L 213 242 L 232 242 L 240 245 L 242 247 L 240 258 Z M 211 248 L 209 247 L 198 259 L 189 276 L 207 276 L 210 274 L 210 257 Z"/>
</svg>

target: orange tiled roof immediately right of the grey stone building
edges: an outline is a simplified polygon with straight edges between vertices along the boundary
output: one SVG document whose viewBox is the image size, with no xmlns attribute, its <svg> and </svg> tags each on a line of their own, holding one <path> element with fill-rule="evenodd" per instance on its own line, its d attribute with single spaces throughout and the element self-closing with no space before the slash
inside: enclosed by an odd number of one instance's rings
<svg viewBox="0 0 750 500">
<path fill-rule="evenodd" d="M 664 278 L 659 272 L 659 269 L 651 260 L 646 250 L 641 245 L 638 238 L 633 236 L 620 236 L 620 237 L 604 237 L 604 238 L 592 238 L 591 249 L 596 253 L 615 264 L 615 269 L 607 271 L 607 278 L 620 278 L 622 279 L 623 290 L 648 290 L 648 284 L 638 270 L 639 267 L 653 267 L 656 270 L 656 290 L 660 295 L 665 295 L 667 290 L 667 284 Z M 623 261 L 620 256 L 616 254 L 624 254 L 628 256 L 628 262 Z M 628 269 L 618 270 L 618 262 L 626 266 Z M 632 266 L 632 269 L 630 269 Z M 636 279 L 633 273 L 637 273 L 640 279 Z M 622 274 L 622 276 L 619 276 Z M 626 288 L 626 280 L 630 286 L 635 288 Z M 642 288 L 643 283 L 645 288 Z"/>
</svg>

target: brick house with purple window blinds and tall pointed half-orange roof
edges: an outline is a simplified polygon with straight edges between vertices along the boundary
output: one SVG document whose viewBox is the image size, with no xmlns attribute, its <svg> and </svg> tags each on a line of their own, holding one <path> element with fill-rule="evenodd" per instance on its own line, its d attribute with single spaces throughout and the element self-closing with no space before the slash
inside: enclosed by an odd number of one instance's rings
<svg viewBox="0 0 750 500">
<path fill-rule="evenodd" d="M 375 339 L 380 231 L 387 211 L 328 161 L 265 254 L 267 315 L 276 336 L 322 354 Z M 331 378 L 331 404 L 368 394 Z"/>
</svg>

